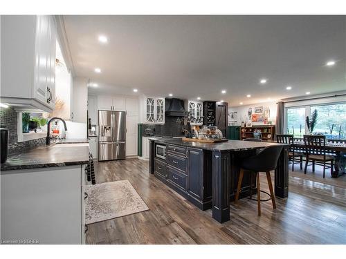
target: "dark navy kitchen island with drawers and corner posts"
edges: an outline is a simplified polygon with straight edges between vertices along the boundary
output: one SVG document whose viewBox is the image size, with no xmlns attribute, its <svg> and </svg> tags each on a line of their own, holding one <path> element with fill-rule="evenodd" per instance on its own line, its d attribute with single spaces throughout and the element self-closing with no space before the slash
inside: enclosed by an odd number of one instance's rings
<svg viewBox="0 0 346 259">
<path fill-rule="evenodd" d="M 289 194 L 288 147 L 269 142 L 228 142 L 207 144 L 183 142 L 172 138 L 150 139 L 149 173 L 183 195 L 199 209 L 212 209 L 212 218 L 230 220 L 230 200 L 235 199 L 239 162 L 266 146 L 283 146 L 275 170 L 275 195 Z M 164 150 L 165 155 L 157 155 Z M 162 152 L 161 152 L 162 153 Z M 248 196 L 250 174 L 244 175 L 240 198 Z M 246 177 L 247 176 L 247 177 Z"/>
</svg>

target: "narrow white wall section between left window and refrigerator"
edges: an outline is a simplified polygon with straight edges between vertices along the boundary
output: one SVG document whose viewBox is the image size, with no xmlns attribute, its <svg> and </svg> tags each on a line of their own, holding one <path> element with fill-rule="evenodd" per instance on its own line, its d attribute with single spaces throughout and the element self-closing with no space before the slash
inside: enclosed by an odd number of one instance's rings
<svg viewBox="0 0 346 259">
<path fill-rule="evenodd" d="M 86 78 L 74 77 L 73 78 L 73 101 L 72 112 L 73 122 L 80 122 L 86 124 L 86 111 L 88 109 L 88 81 Z"/>
</svg>

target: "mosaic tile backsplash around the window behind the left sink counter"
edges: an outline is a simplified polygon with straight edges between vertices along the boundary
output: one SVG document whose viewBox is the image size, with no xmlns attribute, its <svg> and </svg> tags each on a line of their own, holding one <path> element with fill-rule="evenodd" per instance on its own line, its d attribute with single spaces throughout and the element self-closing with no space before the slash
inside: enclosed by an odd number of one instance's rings
<svg viewBox="0 0 346 259">
<path fill-rule="evenodd" d="M 26 142 L 18 142 L 17 135 L 17 112 L 15 109 L 1 108 L 0 109 L 0 127 L 8 129 L 8 155 L 16 155 L 23 153 L 37 146 L 44 146 L 46 138 L 42 137 L 37 140 L 29 140 Z"/>
</svg>

